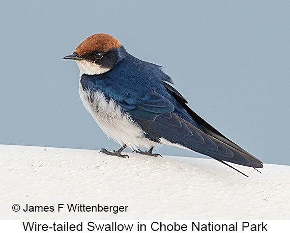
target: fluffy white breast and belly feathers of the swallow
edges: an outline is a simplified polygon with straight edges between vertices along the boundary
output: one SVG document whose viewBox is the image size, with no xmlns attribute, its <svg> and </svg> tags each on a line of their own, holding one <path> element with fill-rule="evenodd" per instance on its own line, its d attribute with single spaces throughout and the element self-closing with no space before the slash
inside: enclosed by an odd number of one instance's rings
<svg viewBox="0 0 290 233">
<path fill-rule="evenodd" d="M 79 83 L 80 99 L 108 138 L 131 149 L 150 148 L 156 143 L 147 139 L 144 132 L 128 113 L 112 99 L 107 100 L 101 91 L 88 93 Z"/>
</svg>

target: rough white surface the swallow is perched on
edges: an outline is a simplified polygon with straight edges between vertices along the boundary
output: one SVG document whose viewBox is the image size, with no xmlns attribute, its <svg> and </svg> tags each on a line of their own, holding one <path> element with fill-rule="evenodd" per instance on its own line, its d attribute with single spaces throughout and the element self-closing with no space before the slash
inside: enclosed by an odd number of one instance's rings
<svg viewBox="0 0 290 233">
<path fill-rule="evenodd" d="M 121 159 L 94 150 L 0 145 L 0 220 L 289 220 L 290 166 L 260 169 L 210 159 Z M 19 212 L 12 211 L 13 204 Z M 65 209 L 57 211 L 59 203 Z M 54 212 L 24 212 L 26 204 Z M 128 205 L 69 212 L 66 204 Z"/>
</svg>

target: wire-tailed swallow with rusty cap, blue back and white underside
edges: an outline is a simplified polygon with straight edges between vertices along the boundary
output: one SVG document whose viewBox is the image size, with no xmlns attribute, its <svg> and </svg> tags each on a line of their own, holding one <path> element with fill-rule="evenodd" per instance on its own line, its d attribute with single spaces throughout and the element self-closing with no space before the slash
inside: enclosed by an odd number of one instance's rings
<svg viewBox="0 0 290 233">
<path fill-rule="evenodd" d="M 79 95 L 86 110 L 108 138 L 122 145 L 101 152 L 127 158 L 121 152 L 129 147 L 156 157 L 160 154 L 153 153 L 154 146 L 167 144 L 205 154 L 240 173 L 225 162 L 263 167 L 191 110 L 163 67 L 133 57 L 114 37 L 92 35 L 63 59 L 75 60 L 79 67 Z"/>
</svg>

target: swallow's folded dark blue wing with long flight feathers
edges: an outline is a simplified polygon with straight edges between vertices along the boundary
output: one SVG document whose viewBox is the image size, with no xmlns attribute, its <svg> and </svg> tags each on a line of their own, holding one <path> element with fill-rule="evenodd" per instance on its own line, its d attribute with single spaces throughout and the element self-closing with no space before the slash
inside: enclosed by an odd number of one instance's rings
<svg viewBox="0 0 290 233">
<path fill-rule="evenodd" d="M 167 88 L 169 88 L 168 86 Z M 179 102 L 182 100 L 183 105 L 186 105 L 186 100 L 179 92 L 172 87 L 171 92 L 175 92 L 175 95 L 180 97 Z M 262 162 L 220 134 L 189 107 L 187 107 L 187 111 L 194 116 L 195 121 L 201 124 L 202 130 L 178 116 L 175 113 L 175 106 L 163 95 L 151 91 L 148 96 L 149 98 L 139 103 L 134 110 L 129 111 L 129 114 L 145 132 L 206 154 L 219 161 L 249 167 L 263 167 Z"/>
</svg>

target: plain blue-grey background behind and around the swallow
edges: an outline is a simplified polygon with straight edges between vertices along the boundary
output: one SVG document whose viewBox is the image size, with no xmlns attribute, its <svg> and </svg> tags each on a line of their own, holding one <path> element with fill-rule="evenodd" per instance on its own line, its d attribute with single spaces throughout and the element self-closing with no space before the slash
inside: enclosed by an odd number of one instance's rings
<svg viewBox="0 0 290 233">
<path fill-rule="evenodd" d="M 119 148 L 82 106 L 77 65 L 62 60 L 108 33 L 164 66 L 222 134 L 265 163 L 290 165 L 289 12 L 289 1 L 266 0 L 1 1 L 0 143 Z"/>
</svg>

